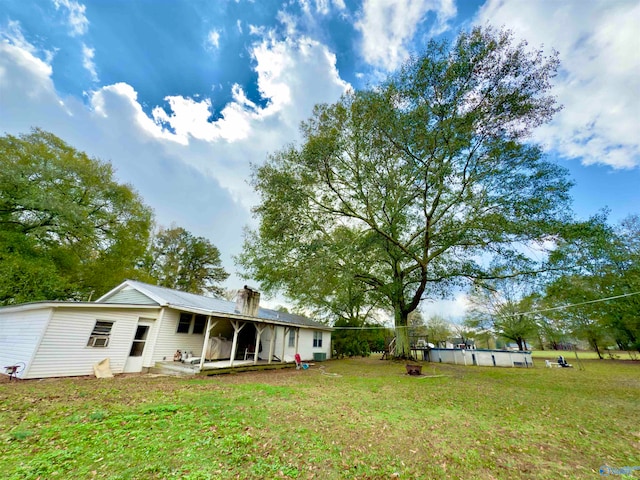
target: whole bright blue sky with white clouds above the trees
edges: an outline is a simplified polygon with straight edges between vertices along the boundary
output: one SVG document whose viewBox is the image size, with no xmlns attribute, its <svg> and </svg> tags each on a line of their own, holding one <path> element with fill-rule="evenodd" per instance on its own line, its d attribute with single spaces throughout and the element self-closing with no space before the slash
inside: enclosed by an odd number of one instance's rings
<svg viewBox="0 0 640 480">
<path fill-rule="evenodd" d="M 560 53 L 564 109 L 535 140 L 569 169 L 578 217 L 640 213 L 637 1 L 0 0 L 0 132 L 37 126 L 111 161 L 159 224 L 208 237 L 235 273 L 250 164 L 298 140 L 314 104 L 487 23 Z"/>
</svg>

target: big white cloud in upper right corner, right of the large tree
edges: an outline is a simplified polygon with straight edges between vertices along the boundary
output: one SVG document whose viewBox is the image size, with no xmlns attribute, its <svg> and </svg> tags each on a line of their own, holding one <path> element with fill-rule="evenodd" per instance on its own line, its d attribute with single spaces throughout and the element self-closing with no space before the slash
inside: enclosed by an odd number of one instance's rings
<svg viewBox="0 0 640 480">
<path fill-rule="evenodd" d="M 585 165 L 640 166 L 640 4 L 489 0 L 477 23 L 489 22 L 560 53 L 564 109 L 536 140 Z"/>
</svg>

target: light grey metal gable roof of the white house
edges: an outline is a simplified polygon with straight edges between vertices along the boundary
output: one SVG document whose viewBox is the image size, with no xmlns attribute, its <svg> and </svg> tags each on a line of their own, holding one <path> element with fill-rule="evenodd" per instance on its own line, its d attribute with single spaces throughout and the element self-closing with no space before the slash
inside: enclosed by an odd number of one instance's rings
<svg viewBox="0 0 640 480">
<path fill-rule="evenodd" d="M 140 298 L 142 294 L 144 298 Z M 331 327 L 316 322 L 302 315 L 294 315 L 291 313 L 279 312 L 268 308 L 260 307 L 257 317 L 248 317 L 243 315 L 236 307 L 236 302 L 230 302 L 221 298 L 206 297 L 204 295 L 196 295 L 194 293 L 181 292 L 158 285 L 151 285 L 137 280 L 125 280 L 116 288 L 107 292 L 96 300 L 96 303 L 127 303 L 127 304 L 145 304 L 148 300 L 155 302 L 160 306 L 172 307 L 175 309 L 200 310 L 210 314 L 226 314 L 241 316 L 245 318 L 258 318 L 266 320 L 269 323 L 291 324 L 303 327 L 318 328 L 322 330 L 333 330 Z"/>
</svg>

